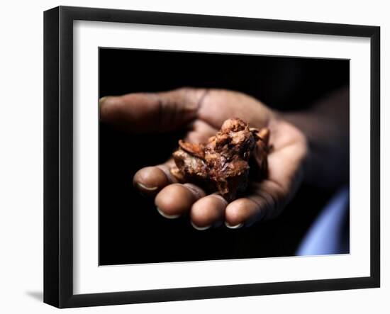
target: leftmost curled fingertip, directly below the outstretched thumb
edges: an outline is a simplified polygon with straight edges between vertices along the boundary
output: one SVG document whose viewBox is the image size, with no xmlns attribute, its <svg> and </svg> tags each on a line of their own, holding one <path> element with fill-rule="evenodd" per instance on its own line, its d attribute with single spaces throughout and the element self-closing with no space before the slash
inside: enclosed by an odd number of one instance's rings
<svg viewBox="0 0 390 314">
<path fill-rule="evenodd" d="M 133 177 L 135 189 L 144 196 L 156 196 L 168 184 L 177 183 L 177 178 L 171 173 L 172 167 L 174 161 L 171 158 L 164 164 L 138 170 Z"/>
</svg>

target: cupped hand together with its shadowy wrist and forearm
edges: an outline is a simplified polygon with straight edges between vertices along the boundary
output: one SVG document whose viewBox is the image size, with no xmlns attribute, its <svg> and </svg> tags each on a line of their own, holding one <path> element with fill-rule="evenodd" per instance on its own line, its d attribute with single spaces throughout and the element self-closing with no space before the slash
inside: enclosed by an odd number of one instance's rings
<svg viewBox="0 0 390 314">
<path fill-rule="evenodd" d="M 242 228 L 277 217 L 303 181 L 325 188 L 347 179 L 348 92 L 325 96 L 311 111 L 281 114 L 245 94 L 221 89 L 182 88 L 158 93 L 109 96 L 100 100 L 101 120 L 130 133 L 157 133 L 185 128 L 189 142 L 206 142 L 232 117 L 251 127 L 268 127 L 269 175 L 250 182 L 247 195 L 228 203 L 194 184 L 181 184 L 170 174 L 172 159 L 140 169 L 133 183 L 155 198 L 166 218 L 189 213 L 198 230 L 225 223 Z M 255 156 L 256 157 L 256 156 Z"/>
</svg>

